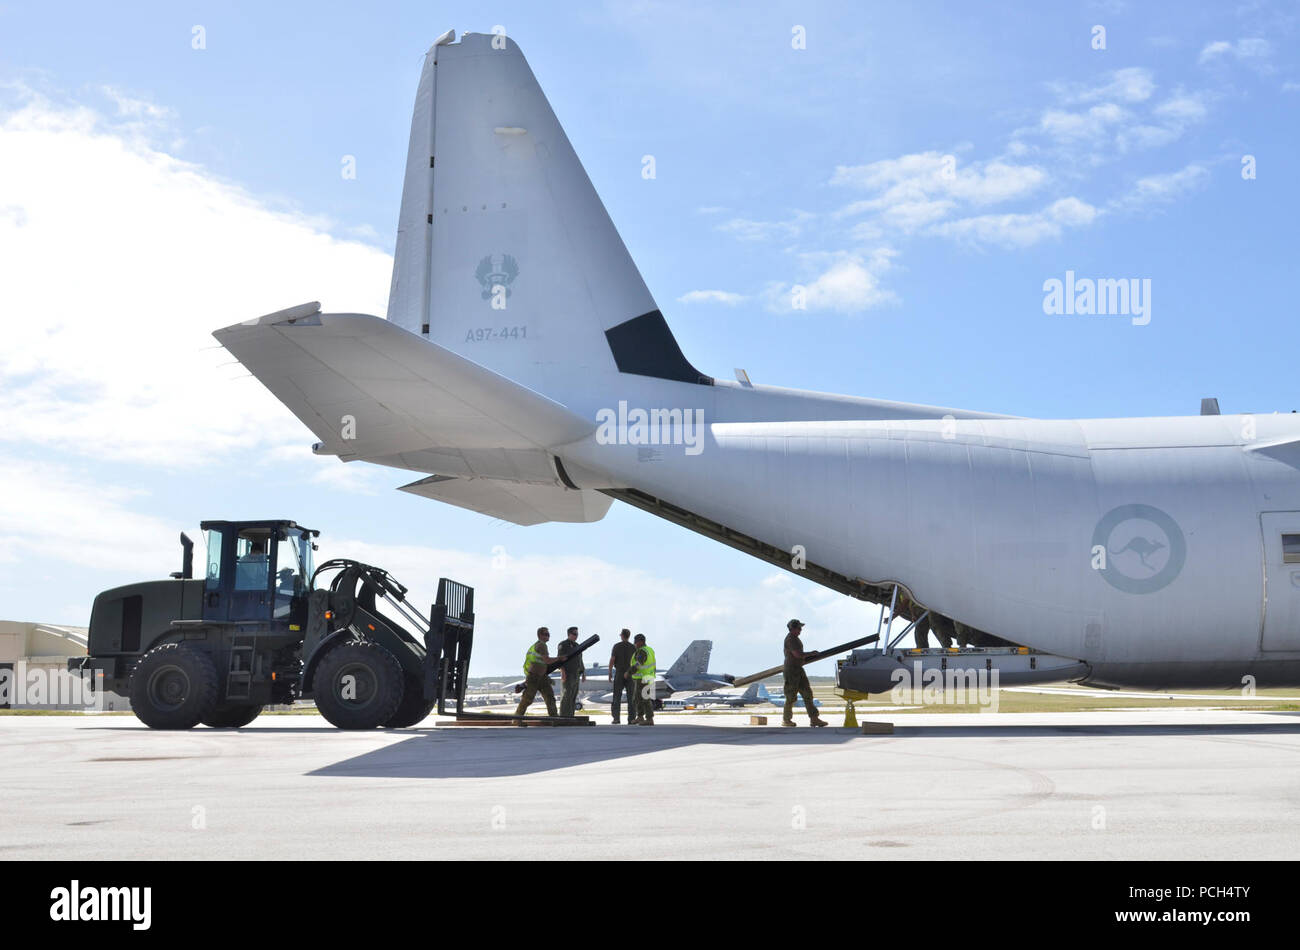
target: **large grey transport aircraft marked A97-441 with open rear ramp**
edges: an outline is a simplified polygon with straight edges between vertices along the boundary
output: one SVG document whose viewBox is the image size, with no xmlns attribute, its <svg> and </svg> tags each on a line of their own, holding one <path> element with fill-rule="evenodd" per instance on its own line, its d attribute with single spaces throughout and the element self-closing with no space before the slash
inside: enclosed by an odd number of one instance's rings
<svg viewBox="0 0 1300 950">
<path fill-rule="evenodd" d="M 216 337 L 321 455 L 521 525 L 623 500 L 1018 645 L 980 655 L 1004 685 L 1300 685 L 1300 417 L 1018 418 L 701 373 L 503 35 L 425 56 L 387 320 L 311 303 Z M 949 659 L 854 654 L 840 682 Z"/>
</svg>

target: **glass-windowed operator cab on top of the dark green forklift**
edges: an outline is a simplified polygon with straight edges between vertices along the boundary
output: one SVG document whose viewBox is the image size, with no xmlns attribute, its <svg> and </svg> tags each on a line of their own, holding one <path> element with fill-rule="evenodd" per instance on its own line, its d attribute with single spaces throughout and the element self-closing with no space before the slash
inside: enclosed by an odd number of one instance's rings
<svg viewBox="0 0 1300 950">
<path fill-rule="evenodd" d="M 204 521 L 208 556 L 203 619 L 217 623 L 307 623 L 307 595 L 320 535 L 292 521 Z"/>
</svg>

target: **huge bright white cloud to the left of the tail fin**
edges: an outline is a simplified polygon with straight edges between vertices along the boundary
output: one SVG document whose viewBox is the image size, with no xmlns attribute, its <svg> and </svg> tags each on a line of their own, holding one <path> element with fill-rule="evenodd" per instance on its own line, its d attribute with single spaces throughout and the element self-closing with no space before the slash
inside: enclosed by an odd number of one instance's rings
<svg viewBox="0 0 1300 950">
<path fill-rule="evenodd" d="M 304 300 L 382 313 L 390 257 L 147 144 L 165 110 L 136 103 L 0 110 L 0 443 L 168 468 L 302 443 L 211 333 Z"/>
</svg>

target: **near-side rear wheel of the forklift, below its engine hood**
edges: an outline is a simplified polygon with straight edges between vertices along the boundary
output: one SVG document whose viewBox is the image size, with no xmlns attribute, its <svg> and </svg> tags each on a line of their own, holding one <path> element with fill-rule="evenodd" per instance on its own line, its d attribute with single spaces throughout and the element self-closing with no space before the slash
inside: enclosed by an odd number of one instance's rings
<svg viewBox="0 0 1300 950">
<path fill-rule="evenodd" d="M 205 652 L 164 643 L 144 654 L 127 690 L 144 725 L 192 729 L 217 708 L 217 667 Z"/>
</svg>

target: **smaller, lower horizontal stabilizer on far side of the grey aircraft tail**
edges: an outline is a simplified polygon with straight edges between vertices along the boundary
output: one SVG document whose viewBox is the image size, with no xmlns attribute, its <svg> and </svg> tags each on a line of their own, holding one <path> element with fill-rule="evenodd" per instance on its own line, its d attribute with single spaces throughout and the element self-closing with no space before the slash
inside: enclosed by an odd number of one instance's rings
<svg viewBox="0 0 1300 950">
<path fill-rule="evenodd" d="M 543 521 L 599 521 L 614 499 L 599 491 L 575 491 L 558 485 L 526 485 L 495 478 L 429 476 L 403 485 L 402 491 L 432 498 L 516 525 Z"/>
</svg>

